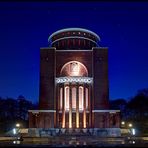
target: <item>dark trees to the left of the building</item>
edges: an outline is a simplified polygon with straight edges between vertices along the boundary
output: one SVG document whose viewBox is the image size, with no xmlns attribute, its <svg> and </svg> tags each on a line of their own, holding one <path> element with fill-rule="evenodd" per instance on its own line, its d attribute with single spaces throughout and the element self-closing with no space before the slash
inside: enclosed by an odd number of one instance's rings
<svg viewBox="0 0 148 148">
<path fill-rule="evenodd" d="M 13 128 L 17 122 L 28 126 L 28 110 L 37 109 L 38 105 L 28 101 L 22 95 L 14 98 L 0 97 L 0 134 Z"/>
</svg>

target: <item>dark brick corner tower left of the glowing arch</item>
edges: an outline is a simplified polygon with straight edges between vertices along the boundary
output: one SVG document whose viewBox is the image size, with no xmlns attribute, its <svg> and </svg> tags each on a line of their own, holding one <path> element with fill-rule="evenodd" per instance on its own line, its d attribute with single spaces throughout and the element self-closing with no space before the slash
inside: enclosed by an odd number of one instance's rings
<svg viewBox="0 0 148 148">
<path fill-rule="evenodd" d="M 55 49 L 40 50 L 39 109 L 55 109 Z"/>
</svg>

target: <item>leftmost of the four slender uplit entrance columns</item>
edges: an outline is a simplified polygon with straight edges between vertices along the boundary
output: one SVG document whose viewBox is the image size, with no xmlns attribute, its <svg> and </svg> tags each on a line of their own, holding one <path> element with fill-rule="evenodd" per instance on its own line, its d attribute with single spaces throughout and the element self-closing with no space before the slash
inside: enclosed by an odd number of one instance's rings
<svg viewBox="0 0 148 148">
<path fill-rule="evenodd" d="M 62 97 L 62 128 L 65 128 L 65 85 L 63 84 L 63 97 Z"/>
</svg>

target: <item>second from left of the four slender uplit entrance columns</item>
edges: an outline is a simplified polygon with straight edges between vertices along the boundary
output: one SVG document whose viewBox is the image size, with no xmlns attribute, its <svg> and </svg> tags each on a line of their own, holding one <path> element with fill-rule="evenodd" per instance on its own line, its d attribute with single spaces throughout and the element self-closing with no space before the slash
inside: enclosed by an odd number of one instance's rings
<svg viewBox="0 0 148 148">
<path fill-rule="evenodd" d="M 69 128 L 72 128 L 72 88 L 69 85 Z"/>
</svg>

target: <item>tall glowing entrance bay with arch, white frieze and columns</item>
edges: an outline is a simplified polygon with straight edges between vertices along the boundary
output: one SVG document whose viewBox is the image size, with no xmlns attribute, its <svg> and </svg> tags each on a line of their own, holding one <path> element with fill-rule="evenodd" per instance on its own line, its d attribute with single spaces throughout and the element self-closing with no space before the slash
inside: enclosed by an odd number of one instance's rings
<svg viewBox="0 0 148 148">
<path fill-rule="evenodd" d="M 86 66 L 78 61 L 63 65 L 56 79 L 58 110 L 62 128 L 86 128 L 90 118 L 90 90 L 92 78 Z"/>
</svg>

